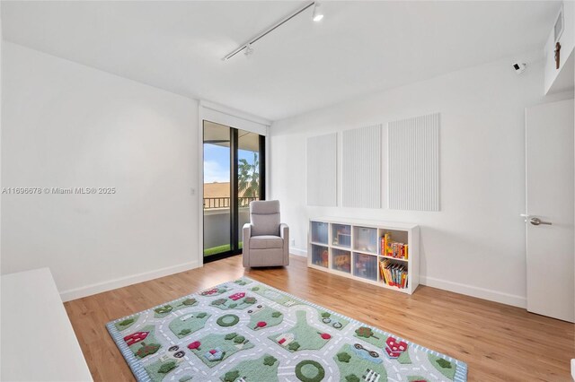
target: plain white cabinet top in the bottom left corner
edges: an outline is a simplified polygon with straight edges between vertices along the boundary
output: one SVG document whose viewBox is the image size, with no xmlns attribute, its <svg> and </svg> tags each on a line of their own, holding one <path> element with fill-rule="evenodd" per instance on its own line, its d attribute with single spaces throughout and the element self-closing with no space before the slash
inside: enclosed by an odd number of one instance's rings
<svg viewBox="0 0 575 382">
<path fill-rule="evenodd" d="M 49 269 L 1 279 L 0 380 L 92 381 Z"/>
</svg>

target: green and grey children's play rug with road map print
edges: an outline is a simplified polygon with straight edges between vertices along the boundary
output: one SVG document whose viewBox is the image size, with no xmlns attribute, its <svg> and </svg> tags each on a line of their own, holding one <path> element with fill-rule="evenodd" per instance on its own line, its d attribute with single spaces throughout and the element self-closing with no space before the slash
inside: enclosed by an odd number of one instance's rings
<svg viewBox="0 0 575 382">
<path fill-rule="evenodd" d="M 242 278 L 107 325 L 138 381 L 456 381 L 467 365 Z"/>
</svg>

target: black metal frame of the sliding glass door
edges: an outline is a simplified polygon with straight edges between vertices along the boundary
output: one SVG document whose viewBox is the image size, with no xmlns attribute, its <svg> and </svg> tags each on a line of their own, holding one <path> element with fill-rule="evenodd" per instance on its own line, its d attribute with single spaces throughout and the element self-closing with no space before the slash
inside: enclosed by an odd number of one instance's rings
<svg viewBox="0 0 575 382">
<path fill-rule="evenodd" d="M 202 136 L 202 140 L 201 140 L 201 144 L 202 144 L 202 151 L 204 150 L 204 136 L 205 136 L 205 124 L 206 122 L 212 122 L 209 121 L 208 119 L 202 119 L 202 126 L 201 126 L 201 136 Z M 217 122 L 212 122 L 212 123 L 217 123 Z M 223 125 L 223 124 L 218 124 L 218 125 Z M 223 126 L 227 126 L 227 125 L 223 125 Z M 216 255 L 209 255 L 209 256 L 205 256 L 204 255 L 204 239 L 206 236 L 206 226 L 204 224 L 204 208 L 202 208 L 202 225 L 203 225 L 203 229 L 202 229 L 202 252 L 201 252 L 201 256 L 203 258 L 203 263 L 210 263 L 212 261 L 217 261 L 217 260 L 221 260 L 223 258 L 226 257 L 230 257 L 230 256 L 237 256 L 242 254 L 242 249 L 239 247 L 239 243 L 241 240 L 241 234 L 240 234 L 240 227 L 238 227 L 239 225 L 239 181 L 238 181 L 238 173 L 239 173 L 239 157 L 238 157 L 238 152 L 239 152 L 239 136 L 238 136 L 238 132 L 241 129 L 235 128 L 233 126 L 227 126 L 230 129 L 230 250 L 226 251 L 226 252 L 222 252 L 222 253 L 218 253 Z M 258 152 L 258 158 L 259 158 L 259 190 L 258 190 L 258 200 L 265 200 L 265 190 L 266 190 L 266 137 L 265 135 L 260 135 L 259 133 L 253 133 L 253 134 L 258 134 L 259 135 L 259 152 Z M 203 158 L 203 155 L 202 155 Z M 204 163 L 202 161 L 201 163 L 202 168 L 204 166 Z M 202 169 L 202 174 L 203 174 L 203 169 Z M 205 178 L 205 174 L 202 177 L 202 182 L 204 181 Z M 202 183 L 202 187 L 203 187 L 203 183 Z M 202 201 L 202 205 L 203 205 L 203 201 Z"/>
</svg>

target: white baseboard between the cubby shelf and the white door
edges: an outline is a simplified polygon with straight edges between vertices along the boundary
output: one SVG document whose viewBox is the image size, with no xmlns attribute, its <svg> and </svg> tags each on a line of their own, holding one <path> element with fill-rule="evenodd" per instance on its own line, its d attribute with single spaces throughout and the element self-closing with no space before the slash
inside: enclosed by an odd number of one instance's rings
<svg viewBox="0 0 575 382">
<path fill-rule="evenodd" d="M 503 293 L 500 291 L 492 291 L 490 289 L 466 285 L 459 282 L 448 282 L 446 280 L 439 280 L 434 277 L 420 275 L 420 284 L 445 291 L 453 291 L 467 296 L 477 297 L 483 300 L 500 302 L 502 304 L 507 304 L 518 308 L 526 308 L 527 306 L 527 300 L 523 296 Z"/>
</svg>

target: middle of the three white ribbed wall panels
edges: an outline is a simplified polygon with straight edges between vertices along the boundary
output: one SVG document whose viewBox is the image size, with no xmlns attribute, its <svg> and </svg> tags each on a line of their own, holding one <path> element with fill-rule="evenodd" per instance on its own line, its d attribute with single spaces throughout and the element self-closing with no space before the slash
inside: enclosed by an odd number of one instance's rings
<svg viewBox="0 0 575 382">
<path fill-rule="evenodd" d="M 381 125 L 342 135 L 341 197 L 344 207 L 381 208 Z"/>
</svg>

